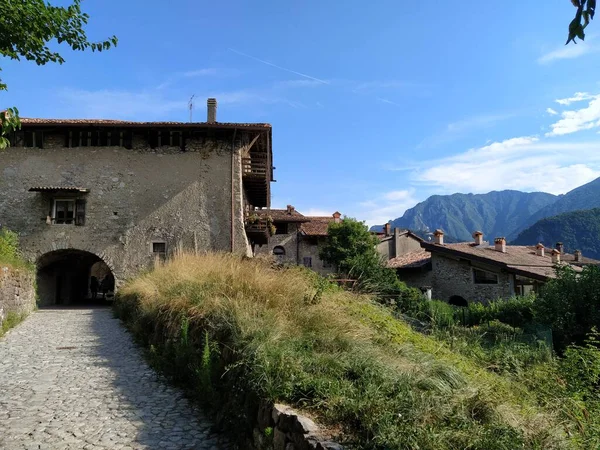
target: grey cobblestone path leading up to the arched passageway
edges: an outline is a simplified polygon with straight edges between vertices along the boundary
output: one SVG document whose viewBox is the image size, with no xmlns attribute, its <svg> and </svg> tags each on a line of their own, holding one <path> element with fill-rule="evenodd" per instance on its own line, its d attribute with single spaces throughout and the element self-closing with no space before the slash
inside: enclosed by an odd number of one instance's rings
<svg viewBox="0 0 600 450">
<path fill-rule="evenodd" d="M 0 449 L 224 449 L 109 309 L 46 309 L 0 338 Z"/>
</svg>

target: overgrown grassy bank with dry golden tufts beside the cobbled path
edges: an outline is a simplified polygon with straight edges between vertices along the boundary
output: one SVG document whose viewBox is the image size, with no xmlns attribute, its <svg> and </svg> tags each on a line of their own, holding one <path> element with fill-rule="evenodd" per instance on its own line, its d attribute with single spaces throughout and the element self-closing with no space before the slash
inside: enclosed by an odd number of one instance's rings
<svg viewBox="0 0 600 450">
<path fill-rule="evenodd" d="M 116 308 L 168 375 L 238 420 L 247 404 L 236 398 L 248 403 L 250 393 L 304 409 L 363 449 L 558 449 L 588 439 L 550 364 L 535 362 L 527 378 L 500 375 L 299 268 L 182 255 L 126 285 Z"/>
</svg>

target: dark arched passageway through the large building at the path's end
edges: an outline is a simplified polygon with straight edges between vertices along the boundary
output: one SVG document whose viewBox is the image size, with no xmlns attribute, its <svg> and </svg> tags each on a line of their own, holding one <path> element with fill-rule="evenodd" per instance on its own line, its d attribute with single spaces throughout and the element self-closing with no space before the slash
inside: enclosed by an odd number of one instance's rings
<svg viewBox="0 0 600 450">
<path fill-rule="evenodd" d="M 37 261 L 39 304 L 107 302 L 115 289 L 110 268 L 93 253 L 76 249 L 48 252 Z"/>
</svg>

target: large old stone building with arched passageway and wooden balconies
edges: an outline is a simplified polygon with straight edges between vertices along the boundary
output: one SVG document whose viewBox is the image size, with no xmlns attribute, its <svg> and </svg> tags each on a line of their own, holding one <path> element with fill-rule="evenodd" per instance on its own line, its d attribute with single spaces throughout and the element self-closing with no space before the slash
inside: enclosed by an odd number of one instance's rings
<svg viewBox="0 0 600 450">
<path fill-rule="evenodd" d="M 22 119 L 0 152 L 0 223 L 38 267 L 41 304 L 117 285 L 177 250 L 251 255 L 270 206 L 271 126 Z"/>
</svg>

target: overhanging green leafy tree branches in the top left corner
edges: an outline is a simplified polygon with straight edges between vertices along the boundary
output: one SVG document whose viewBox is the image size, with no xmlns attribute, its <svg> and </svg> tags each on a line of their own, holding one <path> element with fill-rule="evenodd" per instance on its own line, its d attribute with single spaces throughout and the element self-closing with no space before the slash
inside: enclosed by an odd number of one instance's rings
<svg viewBox="0 0 600 450">
<path fill-rule="evenodd" d="M 73 0 L 69 6 L 52 6 L 43 0 L 1 0 L 0 55 L 14 60 L 24 58 L 43 66 L 65 62 L 60 53 L 50 49 L 49 44 L 53 42 L 67 44 L 73 50 L 93 52 L 117 45 L 115 36 L 90 42 L 84 31 L 88 19 L 81 11 L 81 0 Z M 0 79 L 0 91 L 6 89 Z M 7 133 L 20 126 L 18 109 L 2 111 L 0 125 L 0 149 L 3 149 L 9 144 Z"/>
</svg>

